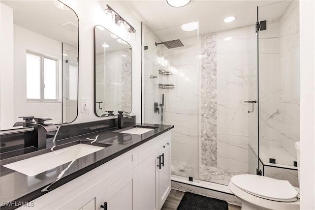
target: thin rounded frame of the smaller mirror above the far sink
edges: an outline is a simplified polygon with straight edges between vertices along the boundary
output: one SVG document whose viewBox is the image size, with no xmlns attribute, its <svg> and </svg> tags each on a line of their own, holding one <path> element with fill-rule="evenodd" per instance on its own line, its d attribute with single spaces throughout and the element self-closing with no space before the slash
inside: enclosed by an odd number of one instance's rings
<svg viewBox="0 0 315 210">
<path fill-rule="evenodd" d="M 113 117 L 113 116 L 117 116 L 117 114 L 114 114 L 114 115 L 112 115 L 112 116 L 98 116 L 97 115 L 97 113 L 96 113 L 96 33 L 95 33 L 95 31 L 96 31 L 96 28 L 97 27 L 102 27 L 102 28 L 104 28 L 105 30 L 107 30 L 107 31 L 109 31 L 110 33 L 112 33 L 112 34 L 115 34 L 115 33 L 113 33 L 112 31 L 110 31 L 110 30 L 108 30 L 108 29 L 106 29 L 105 27 L 103 27 L 103 26 L 101 26 L 101 25 L 95 25 L 95 27 L 93 28 L 93 36 L 94 36 L 94 40 L 93 40 L 93 43 L 94 43 L 94 114 L 95 114 L 95 116 L 96 117 L 98 117 L 98 118 L 105 118 L 105 117 Z M 116 35 L 116 34 L 115 34 Z M 116 35 L 117 36 L 117 35 Z M 120 36 L 117 36 L 118 38 L 120 38 L 120 39 L 122 39 Z M 122 39 L 123 41 L 125 41 L 124 39 Z M 125 41 L 126 42 L 126 41 Z M 128 43 L 128 42 L 126 42 L 126 43 Z M 129 43 L 128 43 L 129 44 Z M 130 74 L 130 79 L 131 79 L 131 81 L 130 81 L 130 94 L 131 94 L 131 104 L 130 104 L 130 107 L 131 107 L 131 109 L 130 109 L 130 112 L 127 112 L 126 114 L 130 114 L 131 112 L 132 112 L 132 47 L 131 47 L 131 44 L 129 44 L 129 46 L 130 46 L 130 49 L 131 49 L 131 61 L 130 61 L 130 64 L 131 64 L 131 74 Z M 122 110 L 123 111 L 123 110 Z"/>
</svg>

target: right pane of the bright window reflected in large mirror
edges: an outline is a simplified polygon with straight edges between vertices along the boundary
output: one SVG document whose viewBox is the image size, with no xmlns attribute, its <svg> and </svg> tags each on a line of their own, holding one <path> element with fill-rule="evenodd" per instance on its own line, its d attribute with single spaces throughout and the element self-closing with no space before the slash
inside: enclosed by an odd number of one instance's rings
<svg viewBox="0 0 315 210">
<path fill-rule="evenodd" d="M 44 58 L 44 99 L 57 99 L 57 61 Z"/>
</svg>

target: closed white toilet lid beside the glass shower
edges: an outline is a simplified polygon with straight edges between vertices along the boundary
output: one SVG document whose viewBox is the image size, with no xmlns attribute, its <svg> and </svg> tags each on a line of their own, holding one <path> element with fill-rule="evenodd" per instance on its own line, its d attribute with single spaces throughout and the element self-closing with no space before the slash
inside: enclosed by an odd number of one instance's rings
<svg viewBox="0 0 315 210">
<path fill-rule="evenodd" d="M 287 180 L 244 174 L 232 177 L 231 182 L 243 191 L 272 201 L 292 202 L 298 195 Z"/>
</svg>

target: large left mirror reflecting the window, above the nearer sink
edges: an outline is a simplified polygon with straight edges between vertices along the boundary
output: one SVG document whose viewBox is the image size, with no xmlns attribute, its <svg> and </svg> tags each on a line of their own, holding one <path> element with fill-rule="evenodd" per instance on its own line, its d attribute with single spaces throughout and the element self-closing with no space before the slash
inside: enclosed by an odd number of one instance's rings
<svg viewBox="0 0 315 210">
<path fill-rule="evenodd" d="M 77 116 L 79 21 L 61 1 L 0 1 L 1 130 L 22 128 L 19 117 Z"/>
</svg>

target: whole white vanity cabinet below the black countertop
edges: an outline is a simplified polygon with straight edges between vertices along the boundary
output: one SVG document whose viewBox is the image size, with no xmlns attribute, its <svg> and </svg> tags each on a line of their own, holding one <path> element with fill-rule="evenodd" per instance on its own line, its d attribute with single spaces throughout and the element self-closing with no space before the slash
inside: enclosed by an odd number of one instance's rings
<svg viewBox="0 0 315 210">
<path fill-rule="evenodd" d="M 171 190 L 171 132 L 71 180 L 19 210 L 160 210 Z"/>
</svg>

